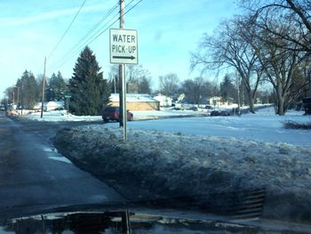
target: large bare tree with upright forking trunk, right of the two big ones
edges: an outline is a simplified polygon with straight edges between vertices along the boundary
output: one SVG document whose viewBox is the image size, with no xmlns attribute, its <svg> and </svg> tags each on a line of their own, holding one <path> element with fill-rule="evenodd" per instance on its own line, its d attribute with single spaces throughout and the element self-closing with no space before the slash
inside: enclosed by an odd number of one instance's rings
<svg viewBox="0 0 311 234">
<path fill-rule="evenodd" d="M 288 39 L 298 41 L 300 37 L 293 21 L 283 21 L 282 16 L 276 14 L 266 14 L 265 17 L 255 18 L 251 15 L 238 21 L 242 31 L 240 34 L 256 52 L 260 72 L 274 87 L 276 113 L 284 115 L 291 101 L 300 95 L 306 85 L 301 83 L 299 70 L 308 56 L 299 49 L 299 44 Z M 271 28 L 274 28 L 274 32 Z"/>
</svg>

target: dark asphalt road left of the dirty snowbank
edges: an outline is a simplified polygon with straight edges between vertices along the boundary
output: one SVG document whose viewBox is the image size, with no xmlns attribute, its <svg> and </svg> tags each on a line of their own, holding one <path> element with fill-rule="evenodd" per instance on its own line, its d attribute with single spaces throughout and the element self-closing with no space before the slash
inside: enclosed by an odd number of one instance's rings
<svg viewBox="0 0 311 234">
<path fill-rule="evenodd" d="M 58 128 L 89 124 L 16 121 L 0 112 L 0 215 L 39 207 L 124 201 L 52 146 L 50 138 Z"/>
</svg>

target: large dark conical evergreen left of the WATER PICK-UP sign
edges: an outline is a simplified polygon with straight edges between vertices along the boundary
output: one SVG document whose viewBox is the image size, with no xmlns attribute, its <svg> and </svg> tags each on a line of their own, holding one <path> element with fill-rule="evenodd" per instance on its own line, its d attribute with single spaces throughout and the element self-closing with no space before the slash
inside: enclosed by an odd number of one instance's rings
<svg viewBox="0 0 311 234">
<path fill-rule="evenodd" d="M 73 77 L 69 79 L 69 92 L 70 112 L 75 115 L 99 115 L 108 105 L 110 86 L 103 79 L 96 57 L 88 46 L 76 61 Z"/>
</svg>

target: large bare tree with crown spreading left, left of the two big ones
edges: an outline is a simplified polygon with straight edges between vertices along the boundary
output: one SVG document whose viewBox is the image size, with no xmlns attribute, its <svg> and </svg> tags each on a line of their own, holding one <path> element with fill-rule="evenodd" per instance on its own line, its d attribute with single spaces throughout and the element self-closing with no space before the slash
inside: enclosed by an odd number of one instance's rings
<svg viewBox="0 0 311 234">
<path fill-rule="evenodd" d="M 256 64 L 258 57 L 250 44 L 245 42 L 238 28 L 237 17 L 220 25 L 215 36 L 203 36 L 197 52 L 192 53 L 191 69 L 235 69 L 242 78 L 250 110 L 255 113 L 254 99 L 259 86 L 260 75 Z"/>
</svg>

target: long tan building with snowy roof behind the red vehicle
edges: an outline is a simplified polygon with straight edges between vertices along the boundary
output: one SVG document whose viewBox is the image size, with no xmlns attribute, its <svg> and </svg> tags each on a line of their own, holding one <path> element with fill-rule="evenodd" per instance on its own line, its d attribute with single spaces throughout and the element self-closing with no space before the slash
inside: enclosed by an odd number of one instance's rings
<svg viewBox="0 0 311 234">
<path fill-rule="evenodd" d="M 110 105 L 119 107 L 119 93 L 110 95 Z M 126 109 L 132 110 L 159 110 L 160 101 L 153 99 L 149 94 L 126 93 Z"/>
</svg>

